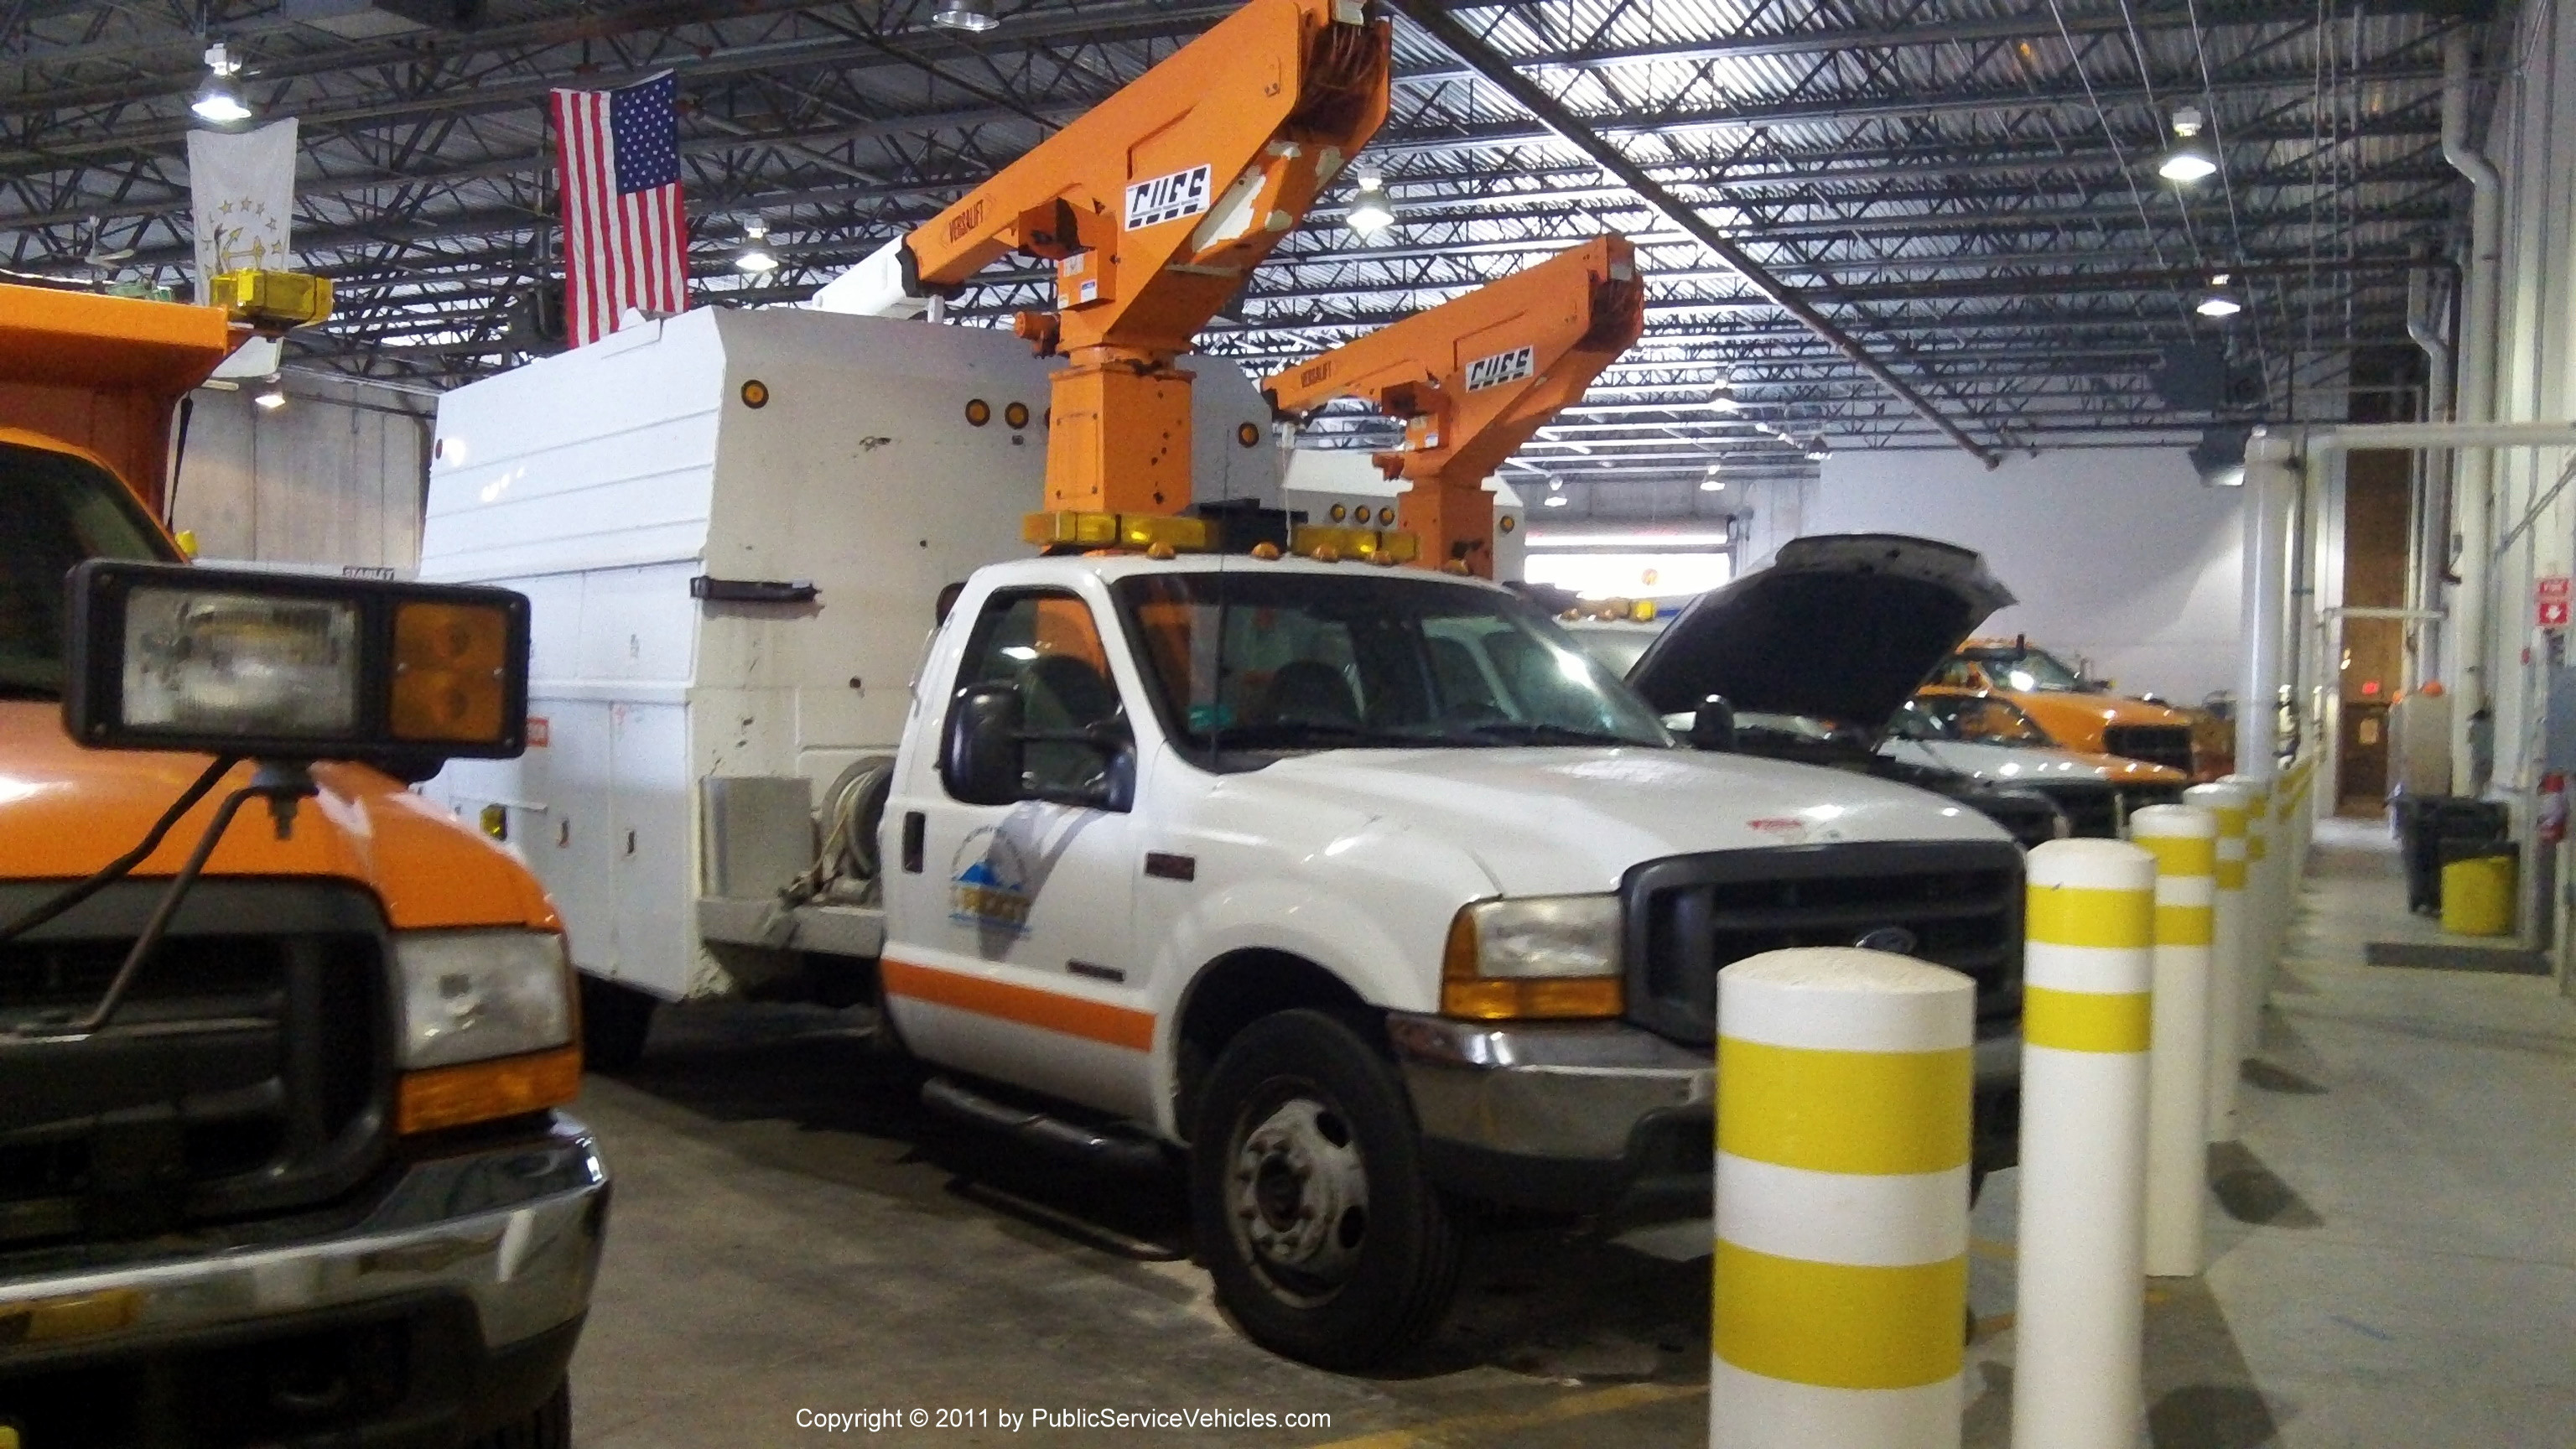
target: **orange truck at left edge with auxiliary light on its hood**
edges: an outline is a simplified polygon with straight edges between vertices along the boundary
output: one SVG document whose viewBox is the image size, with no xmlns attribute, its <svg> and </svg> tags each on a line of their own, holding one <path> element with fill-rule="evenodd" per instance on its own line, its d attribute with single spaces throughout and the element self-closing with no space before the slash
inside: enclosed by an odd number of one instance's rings
<svg viewBox="0 0 2576 1449">
<path fill-rule="evenodd" d="M 569 1444 L 562 928 L 397 779 L 518 750 L 526 601 L 185 565 L 173 407 L 322 289 L 214 291 L 0 286 L 0 1441 Z"/>
</svg>

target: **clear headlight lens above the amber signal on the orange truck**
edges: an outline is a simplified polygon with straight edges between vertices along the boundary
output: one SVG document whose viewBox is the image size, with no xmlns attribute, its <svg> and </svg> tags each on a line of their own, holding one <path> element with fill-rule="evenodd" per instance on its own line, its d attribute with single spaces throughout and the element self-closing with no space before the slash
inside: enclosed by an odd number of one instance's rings
<svg viewBox="0 0 2576 1449">
<path fill-rule="evenodd" d="M 394 967 L 404 1070 L 572 1042 L 572 972 L 551 931 L 404 931 Z"/>
</svg>

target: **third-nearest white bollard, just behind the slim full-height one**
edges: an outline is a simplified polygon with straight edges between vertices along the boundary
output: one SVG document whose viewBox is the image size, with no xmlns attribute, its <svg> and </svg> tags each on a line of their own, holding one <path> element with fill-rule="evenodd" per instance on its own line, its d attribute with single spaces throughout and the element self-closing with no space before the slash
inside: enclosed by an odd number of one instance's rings
<svg viewBox="0 0 2576 1449">
<path fill-rule="evenodd" d="M 2208 1253 L 2210 941 L 2218 815 L 2151 804 L 2130 841 L 2156 856 L 2156 990 L 2146 1052 L 2146 1271 L 2195 1276 Z"/>
</svg>

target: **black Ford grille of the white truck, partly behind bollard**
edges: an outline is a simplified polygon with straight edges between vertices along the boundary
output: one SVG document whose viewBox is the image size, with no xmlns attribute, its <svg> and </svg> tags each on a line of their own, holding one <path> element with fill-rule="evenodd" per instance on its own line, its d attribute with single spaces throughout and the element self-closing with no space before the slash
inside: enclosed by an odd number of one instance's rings
<svg viewBox="0 0 2576 1449">
<path fill-rule="evenodd" d="M 2022 853 L 2009 843 L 1834 843 L 1672 856 L 1628 871 L 1628 1018 L 1685 1044 L 1718 1024 L 1718 969 L 1880 928 L 1976 977 L 1981 1026 L 2022 1011 Z"/>
</svg>

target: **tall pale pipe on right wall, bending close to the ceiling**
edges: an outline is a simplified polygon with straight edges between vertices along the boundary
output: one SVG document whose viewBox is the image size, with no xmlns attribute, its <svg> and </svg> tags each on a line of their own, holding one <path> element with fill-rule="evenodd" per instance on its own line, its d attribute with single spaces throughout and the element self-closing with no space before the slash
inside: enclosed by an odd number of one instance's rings
<svg viewBox="0 0 2576 1449">
<path fill-rule="evenodd" d="M 2460 317 L 2460 423 L 2496 420 L 2496 286 L 2501 281 L 2504 180 L 2468 144 L 2468 31 L 2442 36 L 2442 160 L 2470 186 L 2468 206 L 2468 284 Z M 2452 467 L 2452 526 L 2460 531 L 2460 585 L 2452 596 L 2447 652 L 2452 660 L 2450 712 L 2450 789 L 2476 794 L 2470 779 L 2468 719 L 2488 704 L 2488 544 L 2496 534 L 2496 459 L 2468 451 Z"/>
</svg>

